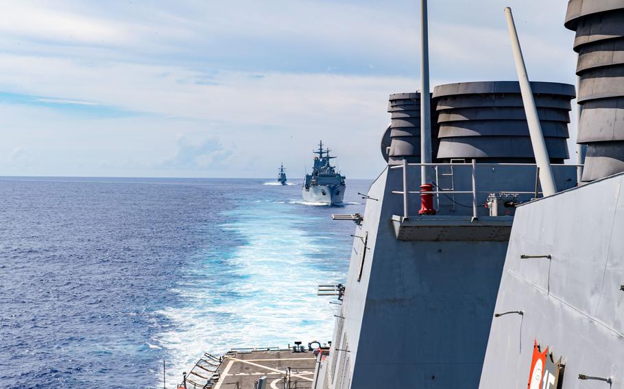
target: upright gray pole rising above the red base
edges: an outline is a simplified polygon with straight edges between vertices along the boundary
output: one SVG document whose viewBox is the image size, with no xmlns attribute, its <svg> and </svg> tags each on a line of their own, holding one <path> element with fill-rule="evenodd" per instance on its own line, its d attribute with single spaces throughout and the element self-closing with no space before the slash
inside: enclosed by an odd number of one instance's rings
<svg viewBox="0 0 624 389">
<path fill-rule="evenodd" d="M 429 26 L 427 0 L 420 1 L 420 162 L 431 164 L 431 97 L 429 96 Z M 429 184 L 429 166 L 420 166 L 420 183 Z"/>
</svg>

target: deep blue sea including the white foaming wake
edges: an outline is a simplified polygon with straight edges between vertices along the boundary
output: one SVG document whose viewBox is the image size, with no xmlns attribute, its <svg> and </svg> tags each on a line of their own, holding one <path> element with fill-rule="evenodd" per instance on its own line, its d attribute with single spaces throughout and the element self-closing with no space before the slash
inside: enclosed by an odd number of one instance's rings
<svg viewBox="0 0 624 389">
<path fill-rule="evenodd" d="M 370 181 L 0 177 L 0 387 L 162 388 L 204 352 L 326 341 Z"/>
</svg>

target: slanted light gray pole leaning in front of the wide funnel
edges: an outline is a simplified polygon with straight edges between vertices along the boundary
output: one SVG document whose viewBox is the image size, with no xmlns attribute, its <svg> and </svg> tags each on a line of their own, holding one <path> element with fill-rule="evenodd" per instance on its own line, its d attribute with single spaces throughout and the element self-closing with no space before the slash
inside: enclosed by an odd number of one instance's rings
<svg viewBox="0 0 624 389">
<path fill-rule="evenodd" d="M 535 160 L 540 168 L 540 184 L 542 184 L 542 192 L 544 197 L 551 196 L 557 192 L 557 185 L 553 177 L 553 166 L 546 149 L 546 141 L 542 132 L 542 125 L 538 116 L 538 110 L 533 99 L 533 90 L 529 82 L 527 67 L 520 48 L 520 40 L 518 40 L 518 32 L 516 32 L 516 24 L 514 23 L 514 15 L 512 9 L 505 8 L 507 16 L 507 27 L 509 28 L 509 36 L 512 40 L 512 50 L 514 51 L 514 59 L 516 60 L 516 71 L 518 72 L 518 81 L 520 82 L 520 92 L 522 92 L 523 105 L 525 106 L 525 114 L 527 114 L 527 122 L 529 123 L 529 134 L 531 135 L 531 145 L 533 145 L 533 153 Z"/>
</svg>

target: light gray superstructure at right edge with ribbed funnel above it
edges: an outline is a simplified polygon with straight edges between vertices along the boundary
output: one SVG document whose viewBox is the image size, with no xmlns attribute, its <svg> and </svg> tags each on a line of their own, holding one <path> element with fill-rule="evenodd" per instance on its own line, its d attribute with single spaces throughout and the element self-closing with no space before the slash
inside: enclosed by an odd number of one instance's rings
<svg viewBox="0 0 624 389">
<path fill-rule="evenodd" d="M 483 389 L 624 388 L 624 1 L 571 0 L 565 27 L 587 184 L 518 208 Z"/>
</svg>

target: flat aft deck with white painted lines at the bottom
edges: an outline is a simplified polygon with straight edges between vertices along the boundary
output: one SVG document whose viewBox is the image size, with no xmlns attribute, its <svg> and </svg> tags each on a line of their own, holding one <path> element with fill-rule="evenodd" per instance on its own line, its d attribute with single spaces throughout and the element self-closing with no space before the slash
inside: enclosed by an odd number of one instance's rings
<svg viewBox="0 0 624 389">
<path fill-rule="evenodd" d="M 219 367 L 214 389 L 254 389 L 261 377 L 267 377 L 267 388 L 282 389 L 288 368 L 289 388 L 311 388 L 316 360 L 312 351 L 232 351 Z"/>
</svg>

